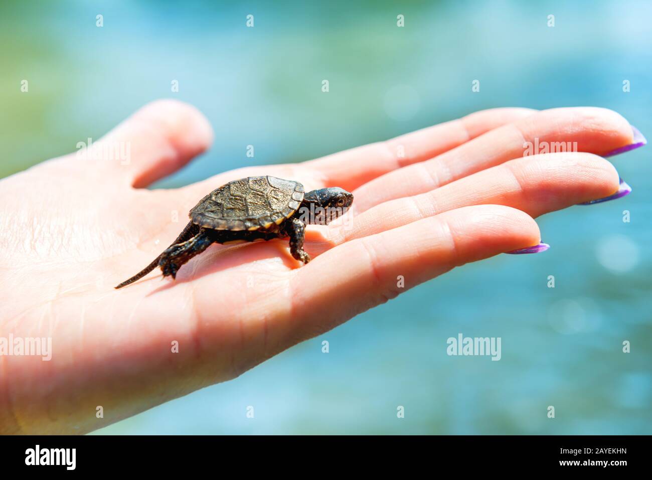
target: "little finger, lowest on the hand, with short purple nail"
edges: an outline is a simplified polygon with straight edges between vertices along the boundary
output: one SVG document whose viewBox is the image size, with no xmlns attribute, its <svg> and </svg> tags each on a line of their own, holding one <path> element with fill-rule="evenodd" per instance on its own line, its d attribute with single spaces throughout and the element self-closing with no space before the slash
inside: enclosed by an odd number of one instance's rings
<svg viewBox="0 0 652 480">
<path fill-rule="evenodd" d="M 540 241 L 526 213 L 477 205 L 344 243 L 295 270 L 293 316 L 280 331 L 290 337 L 301 329 L 299 338 L 314 337 L 453 267 Z"/>
</svg>

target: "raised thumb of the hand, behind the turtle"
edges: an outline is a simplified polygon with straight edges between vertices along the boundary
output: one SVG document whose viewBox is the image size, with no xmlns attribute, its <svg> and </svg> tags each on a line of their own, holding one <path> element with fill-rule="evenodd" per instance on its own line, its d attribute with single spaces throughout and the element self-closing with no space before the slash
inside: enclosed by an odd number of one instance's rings
<svg viewBox="0 0 652 480">
<path fill-rule="evenodd" d="M 141 188 L 176 172 L 212 142 L 211 125 L 199 110 L 156 100 L 93 144 L 93 151 L 102 156 L 108 175 Z"/>
</svg>

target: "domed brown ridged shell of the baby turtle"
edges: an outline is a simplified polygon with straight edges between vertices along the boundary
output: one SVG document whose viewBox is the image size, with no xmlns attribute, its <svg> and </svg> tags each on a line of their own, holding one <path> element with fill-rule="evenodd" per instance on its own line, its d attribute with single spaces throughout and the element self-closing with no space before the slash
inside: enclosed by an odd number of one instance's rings
<svg viewBox="0 0 652 480">
<path fill-rule="evenodd" d="M 216 188 L 188 216 L 194 224 L 213 230 L 267 229 L 294 215 L 303 196 L 299 182 L 269 175 L 248 177 Z"/>
</svg>

